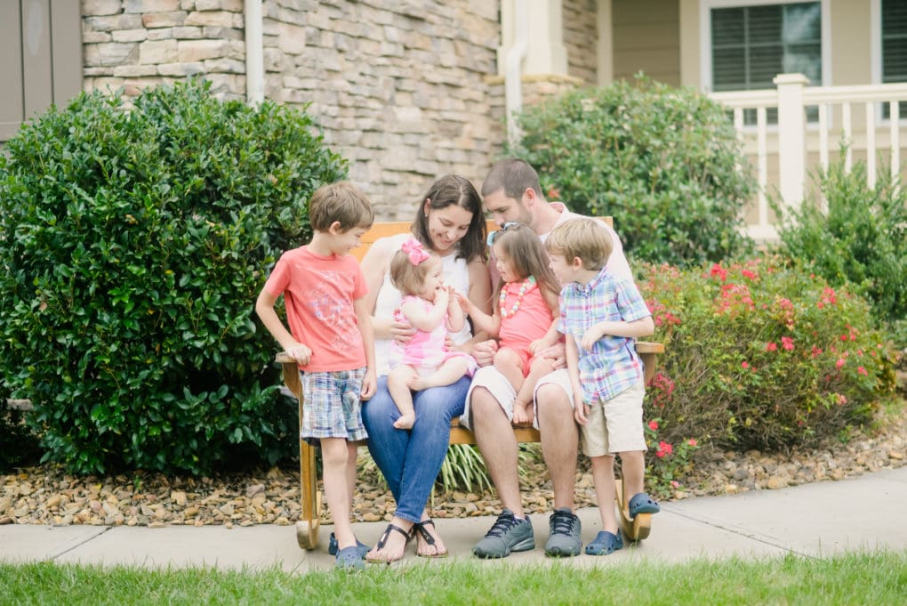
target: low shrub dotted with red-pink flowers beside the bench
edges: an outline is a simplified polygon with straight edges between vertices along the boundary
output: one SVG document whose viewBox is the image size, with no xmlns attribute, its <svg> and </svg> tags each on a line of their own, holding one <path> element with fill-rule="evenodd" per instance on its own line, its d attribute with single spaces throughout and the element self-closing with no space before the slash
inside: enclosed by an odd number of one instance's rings
<svg viewBox="0 0 907 606">
<path fill-rule="evenodd" d="M 778 257 L 647 266 L 639 288 L 667 347 L 646 416 L 669 445 L 809 445 L 865 423 L 893 392 L 869 304 Z"/>
</svg>

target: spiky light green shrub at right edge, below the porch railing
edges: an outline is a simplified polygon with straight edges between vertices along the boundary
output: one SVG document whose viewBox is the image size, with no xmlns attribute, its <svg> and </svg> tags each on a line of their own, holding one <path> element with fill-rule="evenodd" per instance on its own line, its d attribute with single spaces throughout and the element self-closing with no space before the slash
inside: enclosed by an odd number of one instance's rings
<svg viewBox="0 0 907 606">
<path fill-rule="evenodd" d="M 875 186 L 866 183 L 866 163 L 845 167 L 840 159 L 814 178 L 827 210 L 807 201 L 789 211 L 773 200 L 783 217 L 779 229 L 785 254 L 800 259 L 834 287 L 851 284 L 888 323 L 907 318 L 907 193 L 881 167 Z M 907 347 L 902 326 L 901 347 Z"/>
</svg>

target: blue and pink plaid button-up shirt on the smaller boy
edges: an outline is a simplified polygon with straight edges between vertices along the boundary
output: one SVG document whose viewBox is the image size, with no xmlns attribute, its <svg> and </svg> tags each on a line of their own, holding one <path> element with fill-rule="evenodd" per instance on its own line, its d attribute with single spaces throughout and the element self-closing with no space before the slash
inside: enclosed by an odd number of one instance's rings
<svg viewBox="0 0 907 606">
<path fill-rule="evenodd" d="M 643 368 L 634 339 L 606 335 L 589 351 L 580 347 L 582 336 L 599 322 L 632 322 L 647 316 L 651 316 L 649 307 L 636 285 L 631 280 L 612 278 L 607 269 L 586 286 L 573 282 L 561 290 L 558 331 L 572 337 L 579 349 L 583 402 L 610 400 L 635 385 Z"/>
</svg>

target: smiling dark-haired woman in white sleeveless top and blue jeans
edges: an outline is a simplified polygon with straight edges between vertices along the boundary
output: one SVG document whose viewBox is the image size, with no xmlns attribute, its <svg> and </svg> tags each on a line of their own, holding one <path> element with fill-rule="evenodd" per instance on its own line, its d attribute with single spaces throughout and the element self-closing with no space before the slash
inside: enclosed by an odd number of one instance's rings
<svg viewBox="0 0 907 606">
<path fill-rule="evenodd" d="M 368 430 L 368 451 L 396 501 L 394 519 L 366 555 L 370 562 L 401 559 L 413 535 L 419 555 L 447 554 L 425 503 L 447 454 L 451 419 L 463 414 L 470 384 L 469 377 L 464 376 L 453 385 L 416 392 L 413 404 L 418 422 L 411 430 L 395 428 L 400 412 L 387 391 L 387 349 L 395 338 L 410 337 L 414 328 L 393 319 L 401 295 L 388 276 L 390 259 L 405 240 L 415 236 L 443 260 L 444 283 L 453 285 L 485 313 L 491 311 L 491 279 L 485 265 L 485 220 L 482 199 L 473 184 L 459 175 L 447 175 L 435 181 L 416 211 L 412 232 L 379 239 L 362 260 L 369 304 L 374 309 L 378 374 L 375 396 L 363 406 L 362 416 Z M 467 323 L 451 338 L 458 349 L 471 353 L 473 344 L 483 340 L 483 335 L 473 337 Z"/>
</svg>

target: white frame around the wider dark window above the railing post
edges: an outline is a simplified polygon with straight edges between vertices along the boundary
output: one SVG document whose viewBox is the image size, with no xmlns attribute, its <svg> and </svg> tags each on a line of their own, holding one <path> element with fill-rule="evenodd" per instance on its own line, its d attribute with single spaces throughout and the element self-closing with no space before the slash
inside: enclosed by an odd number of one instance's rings
<svg viewBox="0 0 907 606">
<path fill-rule="evenodd" d="M 818 2 L 822 11 L 822 82 L 809 83 L 811 86 L 828 86 L 832 73 L 832 24 L 831 0 L 699 0 L 699 89 L 704 93 L 712 91 L 712 9 L 713 8 L 747 8 L 764 5 L 797 5 L 803 2 Z M 879 0 L 873 0 L 878 3 Z M 879 5 L 881 10 L 881 4 Z M 880 17 L 881 21 L 881 17 Z M 881 24 L 879 54 L 881 58 Z M 880 67 L 881 74 L 881 67 Z M 881 77 L 881 75 L 880 75 Z M 746 90 L 746 89 L 741 89 Z"/>
</svg>

